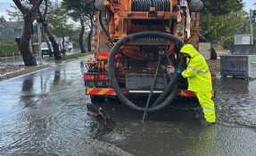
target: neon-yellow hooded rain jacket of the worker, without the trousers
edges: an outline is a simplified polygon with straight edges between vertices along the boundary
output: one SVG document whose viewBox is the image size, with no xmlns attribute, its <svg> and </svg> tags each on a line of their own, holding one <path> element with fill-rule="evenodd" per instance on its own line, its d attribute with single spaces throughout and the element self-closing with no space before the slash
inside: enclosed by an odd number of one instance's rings
<svg viewBox="0 0 256 156">
<path fill-rule="evenodd" d="M 185 44 L 180 52 L 187 53 L 191 58 L 186 58 L 186 70 L 182 76 L 187 78 L 188 89 L 194 92 L 211 91 L 211 73 L 205 58 L 196 51 L 192 44 Z"/>
</svg>

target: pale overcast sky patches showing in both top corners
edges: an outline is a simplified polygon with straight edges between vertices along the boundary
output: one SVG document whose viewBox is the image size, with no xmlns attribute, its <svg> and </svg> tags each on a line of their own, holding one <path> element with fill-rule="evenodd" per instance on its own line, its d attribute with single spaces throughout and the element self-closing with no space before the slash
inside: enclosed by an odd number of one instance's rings
<svg viewBox="0 0 256 156">
<path fill-rule="evenodd" d="M 54 0 L 53 0 L 54 1 Z M 60 1 L 60 0 L 59 0 Z M 256 3 L 256 0 L 243 0 L 243 2 L 245 3 L 245 7 L 244 10 L 246 12 L 249 12 L 250 9 L 252 10 L 256 10 L 256 6 L 252 5 L 254 3 Z M 12 0 L 0 0 L 0 17 L 4 16 L 5 20 L 8 20 L 8 15 L 6 13 L 6 8 L 10 8 L 10 5 L 14 3 L 12 2 Z"/>
</svg>

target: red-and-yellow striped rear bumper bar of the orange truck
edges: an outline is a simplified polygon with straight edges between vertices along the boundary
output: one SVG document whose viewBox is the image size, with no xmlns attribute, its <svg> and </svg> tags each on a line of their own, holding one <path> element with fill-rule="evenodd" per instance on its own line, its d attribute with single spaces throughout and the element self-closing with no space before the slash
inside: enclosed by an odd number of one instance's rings
<svg viewBox="0 0 256 156">
<path fill-rule="evenodd" d="M 128 94 L 143 94 L 149 93 L 150 90 L 122 90 L 124 95 Z M 161 94 L 162 90 L 153 90 L 154 94 Z M 86 88 L 86 95 L 91 96 L 116 96 L 116 92 L 111 88 Z M 194 92 L 190 90 L 178 90 L 176 93 L 178 97 L 195 98 Z M 215 91 L 211 91 L 211 97 L 215 97 Z"/>
</svg>

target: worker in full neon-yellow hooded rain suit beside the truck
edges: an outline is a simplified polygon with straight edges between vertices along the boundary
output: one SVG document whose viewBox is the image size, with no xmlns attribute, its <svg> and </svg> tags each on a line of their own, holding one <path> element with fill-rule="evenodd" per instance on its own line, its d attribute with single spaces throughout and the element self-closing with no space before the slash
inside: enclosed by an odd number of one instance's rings
<svg viewBox="0 0 256 156">
<path fill-rule="evenodd" d="M 212 83 L 209 66 L 205 58 L 194 49 L 192 44 L 185 44 L 180 52 L 186 57 L 187 67 L 181 74 L 187 78 L 187 90 L 194 91 L 198 98 L 206 124 L 215 123 L 216 116 L 214 102 L 211 100 Z"/>
</svg>

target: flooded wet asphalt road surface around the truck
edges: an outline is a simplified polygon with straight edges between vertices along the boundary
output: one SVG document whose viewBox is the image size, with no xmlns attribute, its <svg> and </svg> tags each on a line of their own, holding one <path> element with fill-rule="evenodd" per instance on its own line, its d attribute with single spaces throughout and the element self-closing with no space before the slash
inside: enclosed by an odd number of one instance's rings
<svg viewBox="0 0 256 156">
<path fill-rule="evenodd" d="M 101 105 L 113 132 L 87 115 L 86 59 L 0 82 L 0 155 L 256 155 L 256 81 L 222 78 L 214 89 L 218 123 L 202 127 L 196 102 L 175 100 L 142 122 L 118 102 Z M 193 105 L 193 106 L 191 106 Z"/>
</svg>

